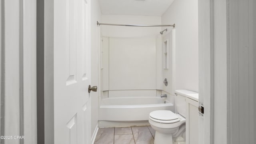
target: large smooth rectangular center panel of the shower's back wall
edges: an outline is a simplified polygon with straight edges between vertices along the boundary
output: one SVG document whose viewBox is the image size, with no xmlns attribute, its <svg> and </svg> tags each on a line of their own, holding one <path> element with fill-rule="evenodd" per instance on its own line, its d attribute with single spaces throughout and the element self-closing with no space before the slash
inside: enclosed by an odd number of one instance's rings
<svg viewBox="0 0 256 144">
<path fill-rule="evenodd" d="M 109 90 L 156 89 L 155 38 L 109 38 Z"/>
</svg>

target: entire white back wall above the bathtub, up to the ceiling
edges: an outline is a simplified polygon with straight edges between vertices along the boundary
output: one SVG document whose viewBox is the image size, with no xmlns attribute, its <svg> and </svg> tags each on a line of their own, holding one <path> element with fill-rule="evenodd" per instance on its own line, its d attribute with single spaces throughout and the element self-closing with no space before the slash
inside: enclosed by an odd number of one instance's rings
<svg viewBox="0 0 256 144">
<path fill-rule="evenodd" d="M 102 15 L 102 23 L 161 24 L 161 17 Z M 102 25 L 101 30 L 103 98 L 156 96 L 162 82 L 156 70 L 162 64 L 156 60 L 161 28 Z"/>
</svg>

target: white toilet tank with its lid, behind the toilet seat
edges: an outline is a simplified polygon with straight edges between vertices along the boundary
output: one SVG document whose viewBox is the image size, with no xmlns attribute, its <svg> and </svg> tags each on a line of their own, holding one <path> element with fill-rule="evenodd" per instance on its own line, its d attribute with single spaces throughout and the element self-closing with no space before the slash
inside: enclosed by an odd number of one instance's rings
<svg viewBox="0 0 256 144">
<path fill-rule="evenodd" d="M 186 97 L 189 97 L 191 94 L 198 93 L 190 90 L 175 90 L 175 110 L 184 118 L 186 118 Z"/>
</svg>

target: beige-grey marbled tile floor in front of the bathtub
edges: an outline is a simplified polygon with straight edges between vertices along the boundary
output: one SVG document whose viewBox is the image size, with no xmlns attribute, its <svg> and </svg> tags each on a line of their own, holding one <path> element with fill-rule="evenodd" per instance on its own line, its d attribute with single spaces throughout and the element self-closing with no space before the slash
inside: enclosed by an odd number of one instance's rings
<svg viewBox="0 0 256 144">
<path fill-rule="evenodd" d="M 99 128 L 94 144 L 154 144 L 151 126 Z"/>
</svg>

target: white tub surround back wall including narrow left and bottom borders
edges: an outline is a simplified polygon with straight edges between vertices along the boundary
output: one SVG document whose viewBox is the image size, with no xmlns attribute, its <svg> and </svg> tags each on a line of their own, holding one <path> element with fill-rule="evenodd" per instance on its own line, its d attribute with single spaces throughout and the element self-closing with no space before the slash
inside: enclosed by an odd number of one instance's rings
<svg viewBox="0 0 256 144">
<path fill-rule="evenodd" d="M 156 96 L 156 38 L 102 38 L 102 90 L 108 97 Z"/>
</svg>

